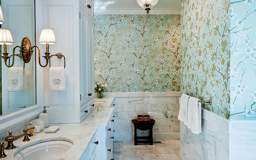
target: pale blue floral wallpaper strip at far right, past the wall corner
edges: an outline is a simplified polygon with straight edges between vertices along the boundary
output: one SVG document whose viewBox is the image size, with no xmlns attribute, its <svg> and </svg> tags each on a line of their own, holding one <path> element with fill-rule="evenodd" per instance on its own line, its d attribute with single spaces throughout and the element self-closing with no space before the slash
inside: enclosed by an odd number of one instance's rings
<svg viewBox="0 0 256 160">
<path fill-rule="evenodd" d="M 256 2 L 230 2 L 230 119 L 255 120 Z"/>
</svg>

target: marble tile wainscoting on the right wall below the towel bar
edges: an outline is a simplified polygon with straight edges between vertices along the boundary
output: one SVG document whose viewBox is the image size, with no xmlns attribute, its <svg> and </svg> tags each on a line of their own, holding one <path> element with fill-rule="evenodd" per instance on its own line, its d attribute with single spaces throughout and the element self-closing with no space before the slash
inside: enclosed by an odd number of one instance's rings
<svg viewBox="0 0 256 160">
<path fill-rule="evenodd" d="M 180 160 L 255 160 L 254 120 L 230 121 L 202 108 L 202 133 L 180 122 Z"/>
</svg>

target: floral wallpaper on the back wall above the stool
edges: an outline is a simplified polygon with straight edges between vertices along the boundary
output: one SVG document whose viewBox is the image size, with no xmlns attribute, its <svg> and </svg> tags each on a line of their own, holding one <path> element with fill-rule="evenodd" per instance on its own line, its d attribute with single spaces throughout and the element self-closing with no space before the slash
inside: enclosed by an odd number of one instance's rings
<svg viewBox="0 0 256 160">
<path fill-rule="evenodd" d="M 95 15 L 95 82 L 106 92 L 180 91 L 180 15 Z"/>
</svg>

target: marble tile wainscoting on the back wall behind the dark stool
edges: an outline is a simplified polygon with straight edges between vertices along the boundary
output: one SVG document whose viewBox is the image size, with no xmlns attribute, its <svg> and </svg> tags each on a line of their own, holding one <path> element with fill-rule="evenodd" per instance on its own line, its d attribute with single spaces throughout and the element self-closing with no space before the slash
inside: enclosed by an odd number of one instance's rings
<svg viewBox="0 0 256 160">
<path fill-rule="evenodd" d="M 179 140 L 180 92 L 122 92 L 104 93 L 114 99 L 114 141 L 133 141 L 134 126 L 131 122 L 138 114 L 148 114 L 156 120 L 153 140 Z M 139 136 L 149 131 L 137 130 Z"/>
</svg>

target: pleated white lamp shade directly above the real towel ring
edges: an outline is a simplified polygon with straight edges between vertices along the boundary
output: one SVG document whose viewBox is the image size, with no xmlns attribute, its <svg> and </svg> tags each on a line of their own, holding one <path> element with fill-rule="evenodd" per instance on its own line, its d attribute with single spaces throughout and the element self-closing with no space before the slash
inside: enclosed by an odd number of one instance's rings
<svg viewBox="0 0 256 160">
<path fill-rule="evenodd" d="M 43 28 L 39 38 L 40 44 L 55 44 L 55 35 L 53 28 Z"/>
</svg>

